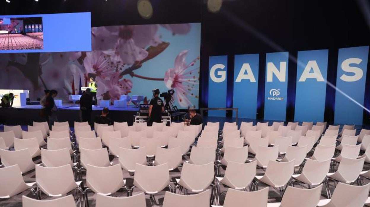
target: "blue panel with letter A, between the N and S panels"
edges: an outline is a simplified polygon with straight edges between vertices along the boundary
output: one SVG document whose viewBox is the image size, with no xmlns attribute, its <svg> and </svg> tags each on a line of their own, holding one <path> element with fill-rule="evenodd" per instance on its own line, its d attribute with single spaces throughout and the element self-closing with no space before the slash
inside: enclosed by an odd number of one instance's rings
<svg viewBox="0 0 370 207">
<path fill-rule="evenodd" d="M 298 51 L 296 121 L 323 121 L 328 50 Z"/>
</svg>

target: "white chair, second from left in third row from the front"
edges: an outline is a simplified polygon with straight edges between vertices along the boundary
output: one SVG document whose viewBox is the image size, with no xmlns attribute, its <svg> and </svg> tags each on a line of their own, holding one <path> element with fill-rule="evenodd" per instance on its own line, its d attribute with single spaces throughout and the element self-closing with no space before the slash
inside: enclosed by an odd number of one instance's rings
<svg viewBox="0 0 370 207">
<path fill-rule="evenodd" d="M 41 148 L 41 162 L 45 167 L 60 167 L 66 164 L 73 167 L 77 164 L 72 162 L 67 148 L 60 150 L 46 150 Z"/>
</svg>

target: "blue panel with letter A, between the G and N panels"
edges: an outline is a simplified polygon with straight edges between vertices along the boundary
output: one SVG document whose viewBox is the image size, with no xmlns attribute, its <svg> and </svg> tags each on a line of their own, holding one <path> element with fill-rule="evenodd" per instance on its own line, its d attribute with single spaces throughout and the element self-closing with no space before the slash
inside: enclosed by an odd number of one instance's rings
<svg viewBox="0 0 370 207">
<path fill-rule="evenodd" d="M 233 107 L 242 118 L 256 118 L 258 63 L 258 54 L 235 55 Z"/>
</svg>

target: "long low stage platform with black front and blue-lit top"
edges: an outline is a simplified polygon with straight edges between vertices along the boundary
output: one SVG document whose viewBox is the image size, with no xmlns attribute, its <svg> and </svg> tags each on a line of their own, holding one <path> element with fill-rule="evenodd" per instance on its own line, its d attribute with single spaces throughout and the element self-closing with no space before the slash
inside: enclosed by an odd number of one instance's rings
<svg viewBox="0 0 370 207">
<path fill-rule="evenodd" d="M 101 115 L 102 107 L 92 107 L 92 121 L 94 116 Z M 38 115 L 41 105 L 27 105 L 14 108 L 0 108 L 1 124 L 21 124 L 32 125 L 32 121 L 46 121 L 45 118 Z M 138 113 L 139 108 L 128 106 L 127 108 L 109 107 L 109 117 L 118 122 L 127 121 L 132 124 L 134 115 Z M 58 107 L 57 116 L 59 121 L 68 121 L 70 126 L 74 126 L 74 121 L 81 121 L 80 106 L 78 104 L 63 104 Z"/>
</svg>

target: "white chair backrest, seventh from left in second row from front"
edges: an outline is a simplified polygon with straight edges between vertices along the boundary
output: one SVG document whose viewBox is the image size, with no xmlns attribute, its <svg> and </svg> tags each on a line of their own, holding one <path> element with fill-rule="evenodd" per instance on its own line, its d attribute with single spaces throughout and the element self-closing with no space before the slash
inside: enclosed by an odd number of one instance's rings
<svg viewBox="0 0 370 207">
<path fill-rule="evenodd" d="M 284 186 L 294 173 L 294 160 L 288 162 L 277 162 L 270 160 L 266 168 L 265 176 L 275 184 L 275 186 Z"/>
</svg>

